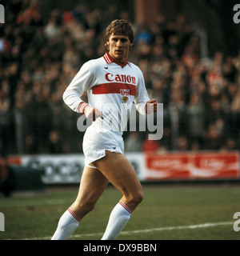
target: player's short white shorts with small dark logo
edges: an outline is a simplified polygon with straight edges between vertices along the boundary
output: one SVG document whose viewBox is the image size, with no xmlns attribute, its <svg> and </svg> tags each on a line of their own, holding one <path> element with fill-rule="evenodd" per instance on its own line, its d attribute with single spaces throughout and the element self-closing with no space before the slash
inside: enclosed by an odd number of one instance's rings
<svg viewBox="0 0 240 256">
<path fill-rule="evenodd" d="M 86 129 L 82 148 L 86 166 L 90 166 L 91 162 L 103 158 L 106 155 L 106 150 L 124 154 L 122 132 L 107 130 L 93 124 Z M 94 168 L 94 166 L 90 167 Z"/>
</svg>

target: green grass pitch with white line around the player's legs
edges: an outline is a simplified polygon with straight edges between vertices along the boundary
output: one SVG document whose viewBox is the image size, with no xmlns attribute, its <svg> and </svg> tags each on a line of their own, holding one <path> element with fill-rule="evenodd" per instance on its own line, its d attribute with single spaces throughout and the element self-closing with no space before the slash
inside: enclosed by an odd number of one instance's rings
<svg viewBox="0 0 240 256">
<path fill-rule="evenodd" d="M 238 240 L 233 218 L 240 212 L 239 184 L 144 185 L 144 200 L 118 240 Z M 5 232 L 0 239 L 49 240 L 58 219 L 78 193 L 78 186 L 46 188 L 33 194 L 0 198 Z M 121 198 L 108 186 L 94 210 L 82 219 L 73 240 L 99 240 L 111 210 Z M 240 225 L 238 224 L 240 227 Z"/>
</svg>

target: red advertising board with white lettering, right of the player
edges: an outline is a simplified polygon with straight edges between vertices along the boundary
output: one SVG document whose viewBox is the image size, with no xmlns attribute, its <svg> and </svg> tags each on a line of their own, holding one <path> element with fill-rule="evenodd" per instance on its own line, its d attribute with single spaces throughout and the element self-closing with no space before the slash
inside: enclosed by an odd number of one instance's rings
<svg viewBox="0 0 240 256">
<path fill-rule="evenodd" d="M 146 154 L 146 180 L 239 178 L 238 152 Z"/>
</svg>

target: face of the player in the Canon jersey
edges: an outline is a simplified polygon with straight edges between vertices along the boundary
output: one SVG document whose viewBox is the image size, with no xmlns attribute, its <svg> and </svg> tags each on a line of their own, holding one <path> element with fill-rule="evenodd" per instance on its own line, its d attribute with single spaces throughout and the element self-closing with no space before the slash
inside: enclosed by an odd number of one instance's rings
<svg viewBox="0 0 240 256">
<path fill-rule="evenodd" d="M 107 44 L 109 45 L 111 58 L 115 62 L 120 62 L 121 64 L 126 63 L 130 46 L 132 46 L 129 37 L 126 35 L 111 34 Z"/>
</svg>

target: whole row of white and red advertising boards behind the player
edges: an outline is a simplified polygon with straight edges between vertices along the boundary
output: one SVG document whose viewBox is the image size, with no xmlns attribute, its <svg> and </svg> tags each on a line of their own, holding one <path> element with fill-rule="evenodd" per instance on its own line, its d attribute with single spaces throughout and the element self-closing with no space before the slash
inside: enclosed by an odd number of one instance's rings
<svg viewBox="0 0 240 256">
<path fill-rule="evenodd" d="M 141 182 L 239 179 L 239 156 L 238 151 L 126 154 Z M 78 183 L 85 165 L 83 154 L 22 155 L 8 160 L 13 165 L 43 170 L 46 184 Z"/>
</svg>

